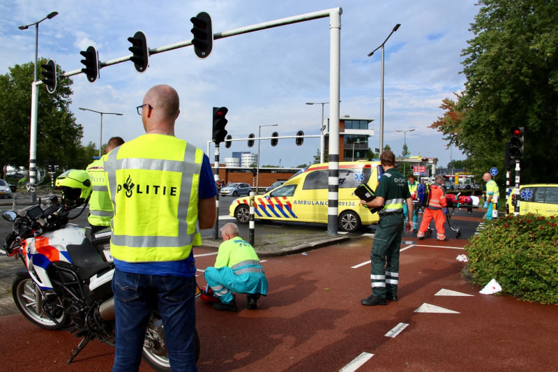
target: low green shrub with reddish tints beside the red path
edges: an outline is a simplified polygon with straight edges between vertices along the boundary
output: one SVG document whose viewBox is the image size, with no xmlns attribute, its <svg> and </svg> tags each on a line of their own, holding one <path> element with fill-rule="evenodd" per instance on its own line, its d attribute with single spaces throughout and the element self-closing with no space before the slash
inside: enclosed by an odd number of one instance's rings
<svg viewBox="0 0 558 372">
<path fill-rule="evenodd" d="M 473 283 L 492 278 L 502 290 L 530 302 L 558 303 L 558 216 L 505 216 L 469 239 Z"/>
</svg>

